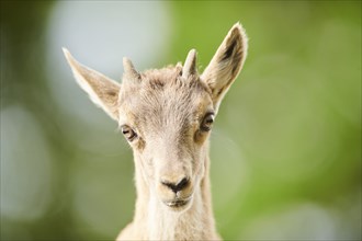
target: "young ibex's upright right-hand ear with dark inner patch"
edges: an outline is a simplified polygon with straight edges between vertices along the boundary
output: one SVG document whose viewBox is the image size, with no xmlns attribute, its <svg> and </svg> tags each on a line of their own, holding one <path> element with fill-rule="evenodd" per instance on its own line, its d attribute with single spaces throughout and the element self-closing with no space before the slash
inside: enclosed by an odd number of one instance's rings
<svg viewBox="0 0 362 241">
<path fill-rule="evenodd" d="M 239 74 L 247 57 L 248 38 L 240 23 L 236 23 L 224 38 L 213 59 L 201 76 L 212 90 L 217 111 L 225 93 Z"/>
</svg>

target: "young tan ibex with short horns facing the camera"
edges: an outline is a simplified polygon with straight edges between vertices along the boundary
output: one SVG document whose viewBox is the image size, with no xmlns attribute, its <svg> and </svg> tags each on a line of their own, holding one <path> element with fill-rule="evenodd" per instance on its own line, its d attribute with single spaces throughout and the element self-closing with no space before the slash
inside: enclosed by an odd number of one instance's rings
<svg viewBox="0 0 362 241">
<path fill-rule="evenodd" d="M 122 84 L 64 49 L 80 87 L 118 123 L 134 152 L 135 216 L 117 240 L 220 239 L 211 202 L 208 137 L 247 48 L 236 23 L 202 74 L 192 49 L 183 66 L 144 72 L 124 58 Z"/>
</svg>

